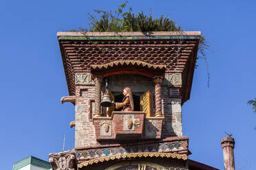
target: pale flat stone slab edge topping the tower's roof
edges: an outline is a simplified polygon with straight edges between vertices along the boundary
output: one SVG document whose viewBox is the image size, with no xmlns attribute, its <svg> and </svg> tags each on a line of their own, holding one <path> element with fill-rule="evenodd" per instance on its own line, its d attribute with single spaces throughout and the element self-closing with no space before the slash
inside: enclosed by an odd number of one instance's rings
<svg viewBox="0 0 256 170">
<path fill-rule="evenodd" d="M 201 36 L 201 32 L 57 32 L 57 37 Z"/>
</svg>

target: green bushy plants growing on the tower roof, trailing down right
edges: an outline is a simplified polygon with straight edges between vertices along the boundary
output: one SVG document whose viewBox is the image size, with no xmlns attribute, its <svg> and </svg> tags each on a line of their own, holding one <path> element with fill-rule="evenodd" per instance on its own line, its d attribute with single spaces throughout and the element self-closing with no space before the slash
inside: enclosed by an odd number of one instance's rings
<svg viewBox="0 0 256 170">
<path fill-rule="evenodd" d="M 127 7 L 127 3 L 128 1 L 124 1 L 114 11 L 94 10 L 94 14 L 88 13 L 89 32 L 142 32 L 147 36 L 151 36 L 150 32 L 179 32 L 180 43 L 182 43 L 182 36 L 186 36 L 186 34 L 169 17 L 161 15 L 159 18 L 153 18 L 151 10 L 149 15 L 143 12 L 134 14 L 132 8 Z M 69 31 L 84 32 L 86 35 L 87 29 L 79 27 L 78 29 L 70 29 Z M 203 59 L 206 63 L 206 72 L 208 75 L 207 86 L 209 87 L 210 78 L 209 66 L 205 54 L 206 49 L 209 49 L 209 45 L 206 44 L 205 38 L 201 36 L 198 47 L 198 59 Z"/>
</svg>

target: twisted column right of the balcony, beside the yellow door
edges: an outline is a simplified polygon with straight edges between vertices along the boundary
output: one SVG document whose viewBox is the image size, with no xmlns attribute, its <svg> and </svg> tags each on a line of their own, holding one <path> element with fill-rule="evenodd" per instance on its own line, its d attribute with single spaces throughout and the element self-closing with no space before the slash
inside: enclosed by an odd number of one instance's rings
<svg viewBox="0 0 256 170">
<path fill-rule="evenodd" d="M 156 113 L 155 117 L 162 117 L 162 97 L 161 97 L 161 83 L 162 76 L 154 76 L 153 82 L 155 83 L 155 102 L 156 102 Z"/>
</svg>

